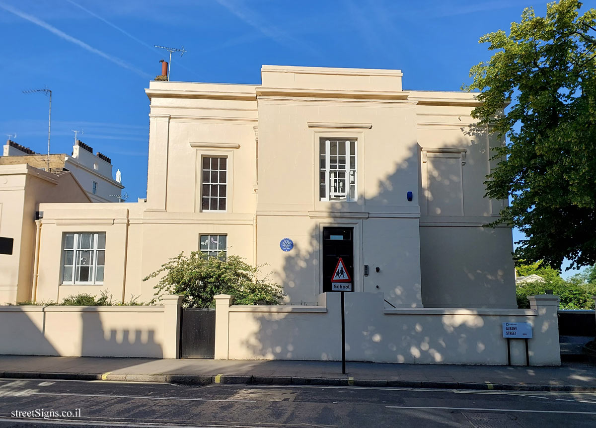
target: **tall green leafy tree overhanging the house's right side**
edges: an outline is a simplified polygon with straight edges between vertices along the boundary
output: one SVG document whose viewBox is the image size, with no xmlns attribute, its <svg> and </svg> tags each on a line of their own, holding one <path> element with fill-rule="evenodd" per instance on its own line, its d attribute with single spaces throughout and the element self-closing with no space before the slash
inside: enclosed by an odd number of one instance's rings
<svg viewBox="0 0 596 428">
<path fill-rule="evenodd" d="M 472 67 L 482 105 L 472 116 L 498 138 L 486 196 L 511 206 L 492 224 L 510 224 L 526 238 L 514 257 L 560 269 L 596 262 L 596 10 L 560 0 L 537 17 L 526 8 L 509 35 L 480 38 L 496 51 Z M 504 106 L 510 106 L 503 111 Z"/>
</svg>

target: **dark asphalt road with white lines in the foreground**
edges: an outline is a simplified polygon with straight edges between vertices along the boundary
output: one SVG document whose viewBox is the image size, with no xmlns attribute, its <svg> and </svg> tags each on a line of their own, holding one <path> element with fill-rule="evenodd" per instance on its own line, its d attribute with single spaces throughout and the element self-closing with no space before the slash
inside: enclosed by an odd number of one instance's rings
<svg viewBox="0 0 596 428">
<path fill-rule="evenodd" d="M 77 426 L 592 428 L 596 393 L 0 380 L 0 428 Z"/>
</svg>

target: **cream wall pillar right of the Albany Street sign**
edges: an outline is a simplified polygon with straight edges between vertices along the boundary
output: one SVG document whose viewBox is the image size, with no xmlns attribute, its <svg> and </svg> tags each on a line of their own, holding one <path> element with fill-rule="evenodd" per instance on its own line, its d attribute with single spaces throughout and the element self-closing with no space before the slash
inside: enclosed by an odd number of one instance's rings
<svg viewBox="0 0 596 428">
<path fill-rule="evenodd" d="M 530 308 L 538 312 L 533 326 L 533 339 L 529 340 L 531 365 L 561 365 L 558 338 L 559 297 L 552 294 L 527 296 Z"/>
</svg>

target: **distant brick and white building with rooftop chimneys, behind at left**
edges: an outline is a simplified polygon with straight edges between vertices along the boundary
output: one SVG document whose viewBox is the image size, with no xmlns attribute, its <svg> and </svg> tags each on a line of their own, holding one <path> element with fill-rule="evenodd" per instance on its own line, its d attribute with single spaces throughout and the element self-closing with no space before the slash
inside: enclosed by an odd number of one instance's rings
<svg viewBox="0 0 596 428">
<path fill-rule="evenodd" d="M 0 165 L 27 163 L 35 168 L 48 168 L 48 155 L 35 153 L 28 147 L 10 141 L 4 145 Z M 50 154 L 49 172 L 70 171 L 93 202 L 119 202 L 124 186 L 112 178 L 111 159 L 105 154 L 93 154 L 93 147 L 76 140 L 72 154 Z"/>
</svg>

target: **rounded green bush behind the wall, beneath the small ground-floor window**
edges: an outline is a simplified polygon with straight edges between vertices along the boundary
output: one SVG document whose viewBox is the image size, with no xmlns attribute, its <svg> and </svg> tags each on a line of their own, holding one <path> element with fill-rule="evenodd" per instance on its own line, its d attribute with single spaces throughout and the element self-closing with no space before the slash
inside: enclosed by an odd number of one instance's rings
<svg viewBox="0 0 596 428">
<path fill-rule="evenodd" d="M 212 308 L 217 294 L 234 296 L 236 305 L 278 305 L 283 290 L 268 276 L 261 277 L 260 267 L 238 256 L 207 257 L 195 251 L 169 259 L 143 281 L 163 274 L 154 287 L 157 291 L 153 302 L 164 294 L 181 294 L 185 308 Z"/>
</svg>

